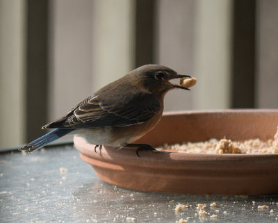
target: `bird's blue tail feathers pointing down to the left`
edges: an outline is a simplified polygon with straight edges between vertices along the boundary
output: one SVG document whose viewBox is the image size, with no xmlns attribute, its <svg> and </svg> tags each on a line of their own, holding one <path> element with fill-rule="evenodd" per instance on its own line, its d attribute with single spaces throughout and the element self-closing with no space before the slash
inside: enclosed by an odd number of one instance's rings
<svg viewBox="0 0 278 223">
<path fill-rule="evenodd" d="M 29 153 L 36 151 L 40 148 L 42 148 L 44 145 L 48 144 L 49 142 L 52 142 L 54 140 L 57 140 L 58 138 L 61 138 L 64 135 L 67 135 L 67 133 L 70 133 L 71 131 L 74 131 L 74 129 L 54 129 L 53 131 L 42 135 L 42 137 L 33 140 L 33 142 L 30 142 L 29 144 L 26 144 L 26 146 L 21 147 L 20 151 L 28 151 Z"/>
</svg>

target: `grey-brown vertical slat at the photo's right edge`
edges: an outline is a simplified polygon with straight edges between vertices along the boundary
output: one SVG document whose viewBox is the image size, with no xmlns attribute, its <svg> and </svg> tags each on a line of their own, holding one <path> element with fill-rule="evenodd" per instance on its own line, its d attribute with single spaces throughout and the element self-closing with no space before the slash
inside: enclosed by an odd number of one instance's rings
<svg viewBox="0 0 278 223">
<path fill-rule="evenodd" d="M 278 108 L 278 1 L 256 2 L 256 106 Z"/>
</svg>

